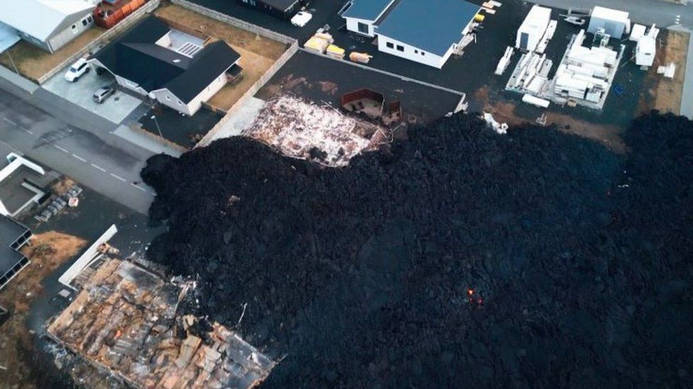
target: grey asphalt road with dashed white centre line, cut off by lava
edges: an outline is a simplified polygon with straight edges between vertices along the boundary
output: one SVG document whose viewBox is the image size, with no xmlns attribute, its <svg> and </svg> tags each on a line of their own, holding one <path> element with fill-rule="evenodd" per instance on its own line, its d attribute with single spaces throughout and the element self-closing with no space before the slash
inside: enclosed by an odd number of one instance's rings
<svg viewBox="0 0 693 389">
<path fill-rule="evenodd" d="M 43 92 L 39 89 L 32 103 L 62 103 L 57 101 L 62 99 L 55 98 L 41 101 L 51 98 Z M 152 152 L 111 135 L 112 123 L 75 111 L 74 107 L 52 109 L 62 116 L 56 118 L 0 90 L 0 140 L 84 186 L 146 214 L 154 191 L 140 183 L 139 172 Z"/>
</svg>

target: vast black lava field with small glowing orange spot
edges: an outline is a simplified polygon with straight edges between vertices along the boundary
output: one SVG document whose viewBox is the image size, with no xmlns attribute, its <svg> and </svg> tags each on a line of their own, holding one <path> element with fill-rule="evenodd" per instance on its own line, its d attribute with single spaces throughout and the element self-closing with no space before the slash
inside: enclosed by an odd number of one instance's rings
<svg viewBox="0 0 693 389">
<path fill-rule="evenodd" d="M 221 140 L 149 160 L 149 255 L 247 304 L 267 388 L 691 388 L 693 122 L 623 138 L 455 115 L 345 169 Z"/>
</svg>

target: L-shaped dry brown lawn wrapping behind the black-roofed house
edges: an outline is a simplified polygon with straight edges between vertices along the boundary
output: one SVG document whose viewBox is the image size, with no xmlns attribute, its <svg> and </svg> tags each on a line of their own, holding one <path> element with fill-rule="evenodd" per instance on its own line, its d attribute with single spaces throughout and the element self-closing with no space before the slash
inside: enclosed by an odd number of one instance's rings
<svg viewBox="0 0 693 389">
<path fill-rule="evenodd" d="M 224 40 L 241 54 L 240 64 L 243 67 L 243 79 L 238 84 L 225 86 L 209 101 L 212 106 L 224 110 L 231 108 L 286 51 L 286 45 L 283 43 L 263 38 L 248 30 L 229 26 L 226 23 L 207 18 L 207 16 L 188 11 L 168 2 L 162 3 L 162 6 L 156 11 L 156 15 L 200 30 L 212 38 Z"/>
</svg>

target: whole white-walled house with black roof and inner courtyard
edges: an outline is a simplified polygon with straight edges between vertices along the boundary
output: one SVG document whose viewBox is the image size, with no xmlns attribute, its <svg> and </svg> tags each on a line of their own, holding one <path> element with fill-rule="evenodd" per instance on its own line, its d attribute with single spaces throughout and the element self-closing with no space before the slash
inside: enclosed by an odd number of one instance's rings
<svg viewBox="0 0 693 389">
<path fill-rule="evenodd" d="M 111 72 L 120 86 L 192 116 L 241 72 L 241 55 L 227 43 L 193 40 L 150 16 L 89 62 Z"/>
</svg>

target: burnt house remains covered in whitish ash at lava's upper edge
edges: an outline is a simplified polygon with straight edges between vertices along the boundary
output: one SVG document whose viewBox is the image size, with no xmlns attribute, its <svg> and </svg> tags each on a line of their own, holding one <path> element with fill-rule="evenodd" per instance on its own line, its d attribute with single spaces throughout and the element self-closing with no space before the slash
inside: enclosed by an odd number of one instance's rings
<svg viewBox="0 0 693 389">
<path fill-rule="evenodd" d="M 382 125 L 345 115 L 327 103 L 319 106 L 284 94 L 266 103 L 244 135 L 288 157 L 342 167 L 364 150 L 378 147 L 381 135 L 388 132 Z"/>
</svg>

